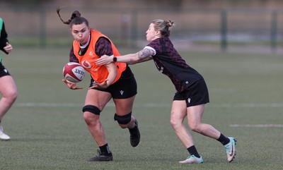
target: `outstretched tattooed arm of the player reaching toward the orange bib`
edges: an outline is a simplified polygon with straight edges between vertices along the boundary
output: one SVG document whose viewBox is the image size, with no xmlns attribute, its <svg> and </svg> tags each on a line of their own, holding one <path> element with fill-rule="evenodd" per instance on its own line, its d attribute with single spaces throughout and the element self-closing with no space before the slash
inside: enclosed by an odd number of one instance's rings
<svg viewBox="0 0 283 170">
<path fill-rule="evenodd" d="M 117 61 L 120 63 L 141 63 L 144 61 L 149 61 L 152 59 L 151 55 L 154 54 L 154 51 L 151 49 L 142 49 L 141 51 L 137 52 L 136 54 L 126 54 L 124 56 L 117 56 Z M 98 65 L 105 65 L 111 63 L 113 61 L 114 56 L 101 56 L 100 59 L 96 60 L 96 64 Z"/>
</svg>

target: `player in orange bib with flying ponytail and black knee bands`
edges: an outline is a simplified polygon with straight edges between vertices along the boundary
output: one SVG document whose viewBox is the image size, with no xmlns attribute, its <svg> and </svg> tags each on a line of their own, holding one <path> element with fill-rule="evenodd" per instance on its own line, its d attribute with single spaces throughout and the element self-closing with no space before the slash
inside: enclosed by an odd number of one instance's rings
<svg viewBox="0 0 283 170">
<path fill-rule="evenodd" d="M 57 9 L 59 18 L 62 20 Z M 140 134 L 137 119 L 132 116 L 134 97 L 137 95 L 137 83 L 134 74 L 127 63 L 109 63 L 105 66 L 96 65 L 100 56 L 119 56 L 111 40 L 98 30 L 90 28 L 88 20 L 81 17 L 79 11 L 74 11 L 71 18 L 63 23 L 70 25 L 74 42 L 69 54 L 70 62 L 80 63 L 86 71 L 91 73 L 91 85 L 88 87 L 85 105 L 82 109 L 83 119 L 88 130 L 99 147 L 98 155 L 88 161 L 112 161 L 112 152 L 105 139 L 105 132 L 100 122 L 100 112 L 105 105 L 113 100 L 115 104 L 114 120 L 121 128 L 128 128 L 130 144 L 132 147 L 139 145 Z M 63 80 L 72 89 L 81 89 L 76 83 Z"/>
</svg>

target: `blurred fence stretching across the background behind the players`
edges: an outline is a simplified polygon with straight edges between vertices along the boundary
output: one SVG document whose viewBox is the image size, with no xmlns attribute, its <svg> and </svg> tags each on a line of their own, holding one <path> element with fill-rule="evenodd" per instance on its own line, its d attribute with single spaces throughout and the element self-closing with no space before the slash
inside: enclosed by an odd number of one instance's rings
<svg viewBox="0 0 283 170">
<path fill-rule="evenodd" d="M 69 25 L 57 6 L 0 6 L 9 40 L 21 47 L 69 47 Z M 263 8 L 96 8 L 66 7 L 64 20 L 80 11 L 91 28 L 100 30 L 120 47 L 144 47 L 151 20 L 171 19 L 175 46 L 185 49 L 283 51 L 283 9 Z"/>
</svg>

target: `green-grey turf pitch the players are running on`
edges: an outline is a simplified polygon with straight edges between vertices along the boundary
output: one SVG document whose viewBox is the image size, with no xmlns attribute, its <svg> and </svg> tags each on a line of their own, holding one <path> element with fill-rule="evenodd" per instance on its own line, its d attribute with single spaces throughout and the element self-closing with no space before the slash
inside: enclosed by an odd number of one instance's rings
<svg viewBox="0 0 283 170">
<path fill-rule="evenodd" d="M 140 144 L 131 147 L 110 102 L 101 121 L 114 161 L 86 162 L 98 149 L 81 112 L 90 81 L 88 75 L 79 83 L 83 90 L 62 83 L 68 54 L 69 49 L 15 48 L 3 55 L 19 96 L 1 123 L 11 140 L 0 141 L 0 169 L 282 169 L 282 55 L 180 51 L 209 87 L 203 122 L 238 141 L 236 159 L 228 163 L 219 142 L 192 133 L 204 164 L 184 165 L 178 161 L 188 153 L 170 124 L 175 90 L 152 61 L 131 66 L 138 83 L 133 115 Z"/>
</svg>

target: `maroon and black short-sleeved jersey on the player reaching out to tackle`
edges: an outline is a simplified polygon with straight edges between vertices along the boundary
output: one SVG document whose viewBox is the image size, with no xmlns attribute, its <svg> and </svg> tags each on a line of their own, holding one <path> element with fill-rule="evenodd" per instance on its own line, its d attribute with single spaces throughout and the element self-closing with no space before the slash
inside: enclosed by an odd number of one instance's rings
<svg viewBox="0 0 283 170">
<path fill-rule="evenodd" d="M 144 48 L 154 50 L 152 58 L 156 68 L 171 79 L 178 92 L 203 79 L 200 73 L 185 63 L 168 37 L 153 40 Z"/>
</svg>

